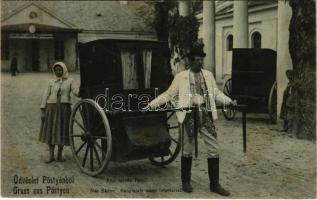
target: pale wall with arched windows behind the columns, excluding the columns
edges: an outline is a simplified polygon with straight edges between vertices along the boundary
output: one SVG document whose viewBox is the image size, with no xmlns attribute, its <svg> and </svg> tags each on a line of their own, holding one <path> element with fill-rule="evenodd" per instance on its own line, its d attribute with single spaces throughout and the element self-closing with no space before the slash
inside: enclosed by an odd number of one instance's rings
<svg viewBox="0 0 317 200">
<path fill-rule="evenodd" d="M 234 41 L 233 2 L 216 4 L 215 15 L 215 75 L 224 83 L 231 77 L 232 48 Z M 199 37 L 203 38 L 203 14 L 198 14 Z M 248 5 L 248 48 L 277 50 L 277 2 Z M 207 44 L 205 44 L 207 45 Z"/>
</svg>

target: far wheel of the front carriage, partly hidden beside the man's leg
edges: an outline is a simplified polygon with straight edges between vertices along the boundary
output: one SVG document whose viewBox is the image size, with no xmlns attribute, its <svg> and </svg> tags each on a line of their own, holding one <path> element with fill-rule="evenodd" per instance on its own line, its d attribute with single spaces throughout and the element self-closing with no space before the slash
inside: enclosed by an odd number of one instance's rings
<svg viewBox="0 0 317 200">
<path fill-rule="evenodd" d="M 171 146 L 169 147 L 169 155 L 149 158 L 153 165 L 164 166 L 173 162 L 180 151 L 180 129 L 175 112 L 167 113 L 167 128 L 169 137 L 171 139 Z"/>
</svg>

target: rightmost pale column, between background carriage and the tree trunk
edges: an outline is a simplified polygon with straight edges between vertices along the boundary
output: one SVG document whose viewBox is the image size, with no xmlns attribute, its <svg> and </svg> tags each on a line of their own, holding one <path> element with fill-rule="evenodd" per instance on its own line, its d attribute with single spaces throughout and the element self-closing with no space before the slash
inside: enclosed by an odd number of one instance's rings
<svg viewBox="0 0 317 200">
<path fill-rule="evenodd" d="M 289 31 L 288 27 L 292 17 L 292 9 L 288 1 L 278 1 L 277 10 L 277 64 L 276 64 L 276 81 L 277 81 L 277 114 L 280 115 L 283 92 L 287 86 L 288 79 L 285 71 L 292 69 L 292 60 L 289 53 Z"/>
</svg>

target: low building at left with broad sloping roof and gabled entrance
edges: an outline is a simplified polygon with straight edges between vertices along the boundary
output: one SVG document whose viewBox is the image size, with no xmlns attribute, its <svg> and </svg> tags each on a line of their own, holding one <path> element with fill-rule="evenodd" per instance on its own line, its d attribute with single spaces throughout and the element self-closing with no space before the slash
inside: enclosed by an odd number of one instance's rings
<svg viewBox="0 0 317 200">
<path fill-rule="evenodd" d="M 119 1 L 2 1 L 1 70 L 48 71 L 56 61 L 79 68 L 78 44 L 97 39 L 156 40 Z"/>
</svg>

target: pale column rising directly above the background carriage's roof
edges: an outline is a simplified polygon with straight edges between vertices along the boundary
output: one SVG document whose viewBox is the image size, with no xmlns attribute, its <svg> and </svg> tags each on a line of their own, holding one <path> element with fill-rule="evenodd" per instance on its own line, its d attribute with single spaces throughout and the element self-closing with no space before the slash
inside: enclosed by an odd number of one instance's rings
<svg viewBox="0 0 317 200">
<path fill-rule="evenodd" d="M 233 2 L 233 48 L 249 47 L 248 1 Z"/>
</svg>

